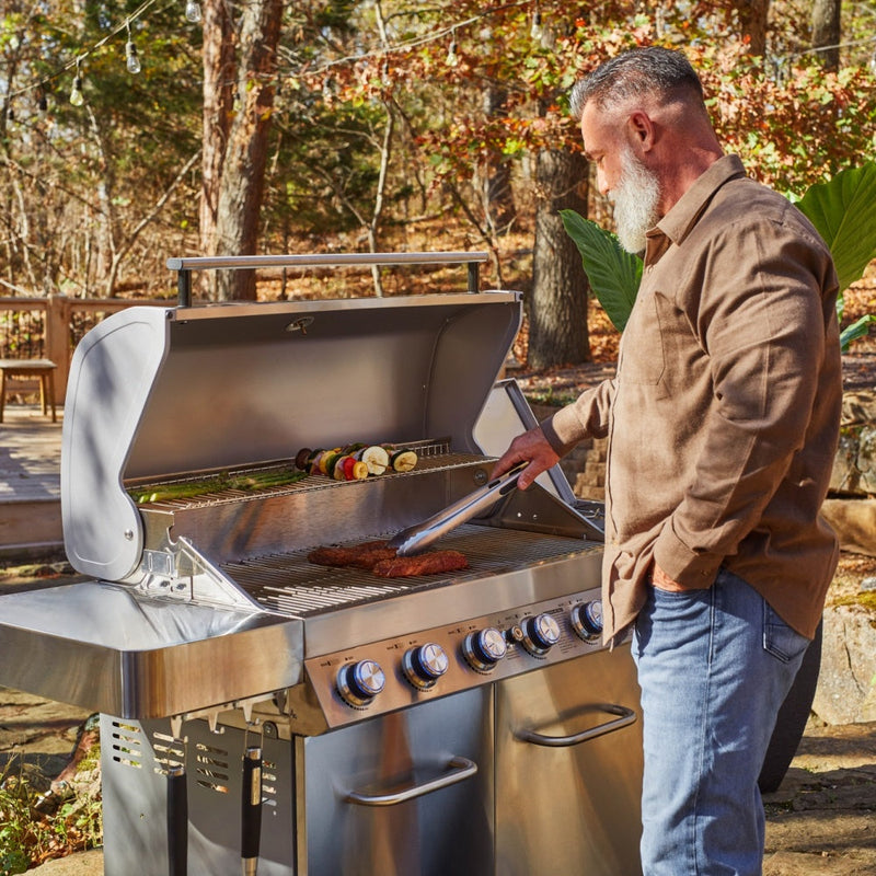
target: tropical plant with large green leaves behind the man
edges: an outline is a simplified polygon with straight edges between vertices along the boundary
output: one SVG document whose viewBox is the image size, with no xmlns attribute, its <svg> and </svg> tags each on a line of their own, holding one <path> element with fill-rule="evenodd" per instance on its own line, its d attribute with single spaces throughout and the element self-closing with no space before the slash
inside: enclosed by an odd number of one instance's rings
<svg viewBox="0 0 876 876">
<path fill-rule="evenodd" d="M 839 276 L 837 315 L 842 320 L 845 290 L 876 260 L 876 162 L 840 171 L 797 199 L 789 196 L 830 247 Z M 578 247 L 590 288 L 612 325 L 623 332 L 642 279 L 642 258 L 625 252 L 618 238 L 574 210 L 562 210 L 566 233 Z M 843 351 L 864 337 L 876 315 L 866 314 L 840 333 Z"/>
</svg>

